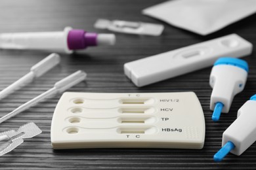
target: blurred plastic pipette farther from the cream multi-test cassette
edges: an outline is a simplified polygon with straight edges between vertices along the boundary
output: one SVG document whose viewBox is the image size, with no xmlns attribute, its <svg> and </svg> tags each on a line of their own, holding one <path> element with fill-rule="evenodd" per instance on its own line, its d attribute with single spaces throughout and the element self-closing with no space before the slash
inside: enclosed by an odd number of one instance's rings
<svg viewBox="0 0 256 170">
<path fill-rule="evenodd" d="M 47 56 L 47 58 L 39 61 L 39 63 L 31 67 L 30 73 L 22 76 L 22 78 L 2 90 L 0 92 L 0 100 L 7 97 L 7 95 L 11 94 L 15 90 L 18 90 L 23 86 L 30 84 L 30 82 L 32 82 L 35 77 L 39 77 L 47 73 L 47 71 L 53 69 L 53 67 L 56 66 L 58 63 L 60 63 L 60 56 L 56 53 L 50 54 L 49 56 Z"/>
</svg>

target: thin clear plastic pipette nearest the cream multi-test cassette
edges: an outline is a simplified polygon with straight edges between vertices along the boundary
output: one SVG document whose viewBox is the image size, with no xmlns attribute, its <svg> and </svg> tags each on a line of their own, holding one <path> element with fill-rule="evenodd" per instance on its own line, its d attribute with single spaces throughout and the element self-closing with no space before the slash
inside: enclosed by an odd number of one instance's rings
<svg viewBox="0 0 256 170">
<path fill-rule="evenodd" d="M 29 109 L 33 105 L 39 103 L 43 99 L 46 99 L 47 97 L 52 97 L 52 95 L 56 95 L 57 93 L 62 93 L 65 90 L 68 90 L 75 84 L 78 84 L 79 82 L 85 80 L 86 73 L 84 71 L 76 71 L 70 76 L 67 76 L 66 78 L 56 82 L 54 84 L 54 87 L 47 90 L 44 93 L 41 93 L 41 95 L 38 95 L 37 97 L 33 98 L 32 100 L 24 103 L 20 107 L 16 108 L 9 114 L 6 114 L 5 116 L 0 118 L 0 123 L 4 122 L 5 120 L 11 118 L 12 116 L 15 116 L 16 114 L 23 112 L 26 109 Z"/>
</svg>

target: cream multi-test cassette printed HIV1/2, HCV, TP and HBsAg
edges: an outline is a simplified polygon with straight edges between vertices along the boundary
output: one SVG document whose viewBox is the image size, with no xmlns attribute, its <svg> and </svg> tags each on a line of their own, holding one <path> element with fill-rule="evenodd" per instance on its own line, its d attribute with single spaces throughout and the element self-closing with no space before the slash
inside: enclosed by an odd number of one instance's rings
<svg viewBox="0 0 256 170">
<path fill-rule="evenodd" d="M 66 92 L 51 124 L 54 149 L 201 149 L 204 139 L 203 110 L 194 92 Z"/>
</svg>

